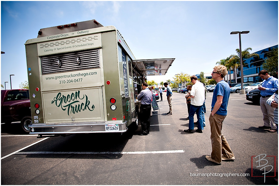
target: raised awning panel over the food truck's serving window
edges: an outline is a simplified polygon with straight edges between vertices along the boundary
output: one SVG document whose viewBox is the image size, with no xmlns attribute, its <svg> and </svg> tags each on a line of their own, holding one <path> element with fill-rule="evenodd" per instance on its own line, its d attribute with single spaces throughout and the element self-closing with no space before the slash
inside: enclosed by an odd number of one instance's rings
<svg viewBox="0 0 279 186">
<path fill-rule="evenodd" d="M 153 59 L 153 60 L 133 60 L 135 66 L 145 76 L 165 75 L 175 58 Z"/>
</svg>

